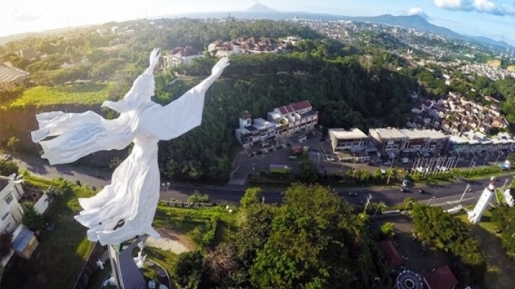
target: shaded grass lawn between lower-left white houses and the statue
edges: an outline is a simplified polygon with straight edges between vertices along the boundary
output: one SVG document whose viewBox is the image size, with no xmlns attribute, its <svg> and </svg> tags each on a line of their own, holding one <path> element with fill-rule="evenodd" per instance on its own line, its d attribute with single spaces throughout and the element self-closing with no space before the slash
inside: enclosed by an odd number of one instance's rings
<svg viewBox="0 0 515 289">
<path fill-rule="evenodd" d="M 27 177 L 25 180 L 31 183 L 33 178 Z M 61 196 L 45 215 L 46 221 L 54 224 L 54 230 L 42 232 L 39 246 L 30 260 L 18 258 L 13 263 L 13 267 L 4 274 L 2 288 L 53 289 L 73 286 L 93 246 L 86 239 L 86 228 L 73 219 L 79 211 L 77 197 L 88 197 L 93 192 L 84 187 L 73 188 L 74 194 Z"/>
</svg>

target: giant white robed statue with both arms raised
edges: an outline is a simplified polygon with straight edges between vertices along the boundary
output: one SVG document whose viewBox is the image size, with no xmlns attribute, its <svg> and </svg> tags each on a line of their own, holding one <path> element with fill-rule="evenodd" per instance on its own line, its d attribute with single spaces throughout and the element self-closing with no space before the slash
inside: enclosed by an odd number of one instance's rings
<svg viewBox="0 0 515 289">
<path fill-rule="evenodd" d="M 150 55 L 150 65 L 117 102 L 105 101 L 102 106 L 120 113 L 116 119 L 100 115 L 41 113 L 36 116 L 39 129 L 32 140 L 41 144 L 43 158 L 50 164 L 70 163 L 102 150 L 121 150 L 131 142 L 130 155 L 114 170 L 111 184 L 91 198 L 80 198 L 84 209 L 75 219 L 88 227 L 90 241 L 117 245 L 138 235 L 159 238 L 152 228 L 159 201 L 159 167 L 157 143 L 170 140 L 200 125 L 204 95 L 229 65 L 222 58 L 211 75 L 179 99 L 161 106 L 151 101 L 154 95 L 154 68 L 159 51 Z M 45 140 L 47 137 L 54 137 Z"/>
</svg>

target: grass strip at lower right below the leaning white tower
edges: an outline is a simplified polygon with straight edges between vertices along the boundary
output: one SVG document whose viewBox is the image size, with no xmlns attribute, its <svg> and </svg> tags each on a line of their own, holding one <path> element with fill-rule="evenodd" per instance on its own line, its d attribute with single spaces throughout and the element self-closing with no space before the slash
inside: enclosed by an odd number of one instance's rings
<svg viewBox="0 0 515 289">
<path fill-rule="evenodd" d="M 471 208 L 470 208 L 471 209 Z M 485 275 L 485 285 L 489 289 L 512 289 L 515 284 L 515 264 L 506 255 L 501 247 L 501 240 L 495 234 L 495 224 L 490 222 L 492 213 L 486 210 L 481 218 L 481 222 L 472 225 L 467 220 L 467 214 L 456 215 L 466 224 L 470 224 L 470 234 L 479 242 L 481 251 L 487 260 L 487 272 Z"/>
</svg>

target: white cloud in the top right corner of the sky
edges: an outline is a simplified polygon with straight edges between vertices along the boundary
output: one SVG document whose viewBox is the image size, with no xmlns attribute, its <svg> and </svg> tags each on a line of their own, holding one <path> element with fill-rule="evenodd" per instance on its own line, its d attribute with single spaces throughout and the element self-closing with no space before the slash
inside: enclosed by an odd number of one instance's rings
<svg viewBox="0 0 515 289">
<path fill-rule="evenodd" d="M 434 0 L 442 9 L 455 11 L 476 11 L 494 15 L 515 15 L 515 7 L 501 6 L 496 0 Z"/>
</svg>

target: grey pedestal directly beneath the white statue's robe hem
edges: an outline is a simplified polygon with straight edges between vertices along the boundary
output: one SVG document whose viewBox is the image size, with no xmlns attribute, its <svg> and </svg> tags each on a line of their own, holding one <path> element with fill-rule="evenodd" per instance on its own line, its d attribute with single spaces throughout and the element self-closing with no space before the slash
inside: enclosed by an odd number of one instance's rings
<svg viewBox="0 0 515 289">
<path fill-rule="evenodd" d="M 118 250 L 113 245 L 107 246 L 116 288 L 147 289 L 147 282 L 132 256 L 132 251 L 138 247 L 138 243 L 144 243 L 146 239 L 147 235 L 138 236 L 125 250 Z"/>
</svg>

